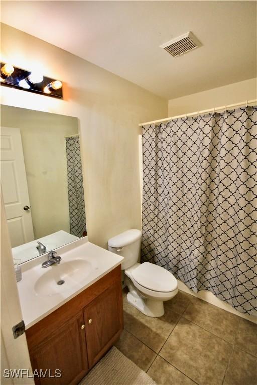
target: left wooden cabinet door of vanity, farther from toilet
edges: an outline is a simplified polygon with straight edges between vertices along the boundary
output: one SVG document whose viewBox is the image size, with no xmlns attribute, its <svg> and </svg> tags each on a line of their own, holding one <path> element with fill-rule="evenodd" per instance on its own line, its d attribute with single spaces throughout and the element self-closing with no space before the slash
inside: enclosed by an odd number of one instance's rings
<svg viewBox="0 0 257 385">
<path fill-rule="evenodd" d="M 61 324 L 60 329 L 30 350 L 32 369 L 45 378 L 34 378 L 36 385 L 75 385 L 88 372 L 83 311 Z M 81 328 L 82 327 L 82 328 Z M 61 377 L 49 378 L 61 370 Z M 58 375 L 58 372 L 57 372 Z"/>
</svg>

